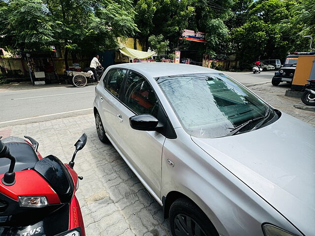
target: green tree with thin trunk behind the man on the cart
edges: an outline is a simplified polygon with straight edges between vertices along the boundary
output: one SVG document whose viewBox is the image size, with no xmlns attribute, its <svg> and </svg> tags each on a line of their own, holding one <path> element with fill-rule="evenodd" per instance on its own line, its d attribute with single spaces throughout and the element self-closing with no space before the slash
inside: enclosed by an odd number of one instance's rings
<svg viewBox="0 0 315 236">
<path fill-rule="evenodd" d="M 114 49 L 118 37 L 134 35 L 134 11 L 130 0 L 47 0 L 56 22 L 56 41 L 68 53 Z M 74 54 L 73 54 L 74 56 Z"/>
</svg>

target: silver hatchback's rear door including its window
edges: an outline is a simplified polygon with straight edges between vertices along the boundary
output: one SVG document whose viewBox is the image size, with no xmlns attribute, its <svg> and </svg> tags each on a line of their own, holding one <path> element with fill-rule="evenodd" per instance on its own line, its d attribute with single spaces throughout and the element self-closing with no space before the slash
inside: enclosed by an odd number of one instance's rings
<svg viewBox="0 0 315 236">
<path fill-rule="evenodd" d="M 121 118 L 117 107 L 121 105 L 119 97 L 121 95 L 121 88 L 124 78 L 126 76 L 126 69 L 115 68 L 107 72 L 103 86 L 100 87 L 100 107 L 102 111 L 100 116 L 103 122 L 105 132 L 110 136 L 112 141 L 120 148 L 120 134 L 117 132 L 120 126 Z"/>
</svg>

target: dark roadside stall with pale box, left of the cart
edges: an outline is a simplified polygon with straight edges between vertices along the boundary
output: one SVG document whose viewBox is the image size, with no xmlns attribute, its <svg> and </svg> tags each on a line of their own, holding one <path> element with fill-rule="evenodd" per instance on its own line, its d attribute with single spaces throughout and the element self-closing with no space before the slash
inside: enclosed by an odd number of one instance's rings
<svg viewBox="0 0 315 236">
<path fill-rule="evenodd" d="M 28 63 L 32 85 L 60 82 L 54 62 L 54 51 L 22 52 L 21 56 Z"/>
</svg>

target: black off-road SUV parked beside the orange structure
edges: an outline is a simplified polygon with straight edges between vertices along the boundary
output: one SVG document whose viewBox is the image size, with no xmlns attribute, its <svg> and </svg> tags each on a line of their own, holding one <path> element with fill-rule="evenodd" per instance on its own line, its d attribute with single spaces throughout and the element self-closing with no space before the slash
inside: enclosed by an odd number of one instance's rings
<svg viewBox="0 0 315 236">
<path fill-rule="evenodd" d="M 298 57 L 297 55 L 286 57 L 284 66 L 275 72 L 275 76 L 271 80 L 272 85 L 278 86 L 280 82 L 292 83 Z"/>
</svg>

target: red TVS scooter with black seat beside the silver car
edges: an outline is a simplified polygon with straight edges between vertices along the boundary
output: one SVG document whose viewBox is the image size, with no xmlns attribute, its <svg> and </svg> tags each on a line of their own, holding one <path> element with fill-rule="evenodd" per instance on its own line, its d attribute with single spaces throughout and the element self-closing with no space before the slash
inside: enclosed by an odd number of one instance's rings
<svg viewBox="0 0 315 236">
<path fill-rule="evenodd" d="M 8 137 L 0 140 L 0 235 L 85 236 L 74 158 L 87 136 L 76 142 L 69 164 L 42 157 L 38 143 Z M 1 139 L 1 137 L 0 137 Z"/>
</svg>

